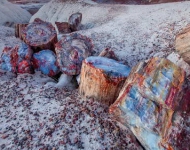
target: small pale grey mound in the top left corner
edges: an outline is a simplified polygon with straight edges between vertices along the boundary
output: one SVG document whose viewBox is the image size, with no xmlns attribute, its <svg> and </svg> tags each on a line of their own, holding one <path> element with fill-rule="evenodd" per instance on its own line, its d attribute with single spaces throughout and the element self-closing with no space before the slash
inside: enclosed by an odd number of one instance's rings
<svg viewBox="0 0 190 150">
<path fill-rule="evenodd" d="M 26 10 L 7 0 L 0 1 L 0 25 L 14 26 L 14 23 L 26 23 L 31 15 Z"/>
</svg>

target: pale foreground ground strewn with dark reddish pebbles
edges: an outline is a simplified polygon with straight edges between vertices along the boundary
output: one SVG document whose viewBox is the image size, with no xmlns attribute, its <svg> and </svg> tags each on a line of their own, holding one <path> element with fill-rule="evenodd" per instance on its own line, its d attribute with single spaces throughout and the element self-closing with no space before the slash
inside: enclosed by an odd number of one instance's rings
<svg viewBox="0 0 190 150">
<path fill-rule="evenodd" d="M 53 80 L 40 73 L 0 71 L 1 150 L 142 149 L 106 106 L 47 82 Z"/>
</svg>

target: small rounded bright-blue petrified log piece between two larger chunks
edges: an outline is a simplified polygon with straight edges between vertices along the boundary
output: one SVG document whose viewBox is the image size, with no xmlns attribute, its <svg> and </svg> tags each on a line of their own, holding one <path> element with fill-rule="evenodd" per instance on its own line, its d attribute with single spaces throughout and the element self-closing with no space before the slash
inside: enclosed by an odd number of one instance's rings
<svg viewBox="0 0 190 150">
<path fill-rule="evenodd" d="M 34 53 L 33 65 L 36 70 L 48 76 L 55 76 L 59 73 L 56 55 L 51 50 L 42 50 L 38 53 Z"/>
</svg>

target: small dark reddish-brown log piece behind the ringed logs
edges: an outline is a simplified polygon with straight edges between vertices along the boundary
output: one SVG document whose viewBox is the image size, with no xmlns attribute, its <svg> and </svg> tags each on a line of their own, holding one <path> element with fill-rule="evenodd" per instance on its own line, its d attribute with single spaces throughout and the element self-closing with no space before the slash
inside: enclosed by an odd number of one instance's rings
<svg viewBox="0 0 190 150">
<path fill-rule="evenodd" d="M 55 22 L 60 34 L 71 33 L 70 25 L 68 22 Z"/>
</svg>

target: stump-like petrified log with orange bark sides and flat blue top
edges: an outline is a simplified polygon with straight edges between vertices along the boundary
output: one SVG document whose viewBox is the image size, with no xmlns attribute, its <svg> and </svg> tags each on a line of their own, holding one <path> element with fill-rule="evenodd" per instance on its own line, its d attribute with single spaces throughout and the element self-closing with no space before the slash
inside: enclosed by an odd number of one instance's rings
<svg viewBox="0 0 190 150">
<path fill-rule="evenodd" d="M 111 105 L 129 75 L 130 68 L 119 62 L 91 56 L 83 61 L 79 92 L 84 98 Z"/>
</svg>

